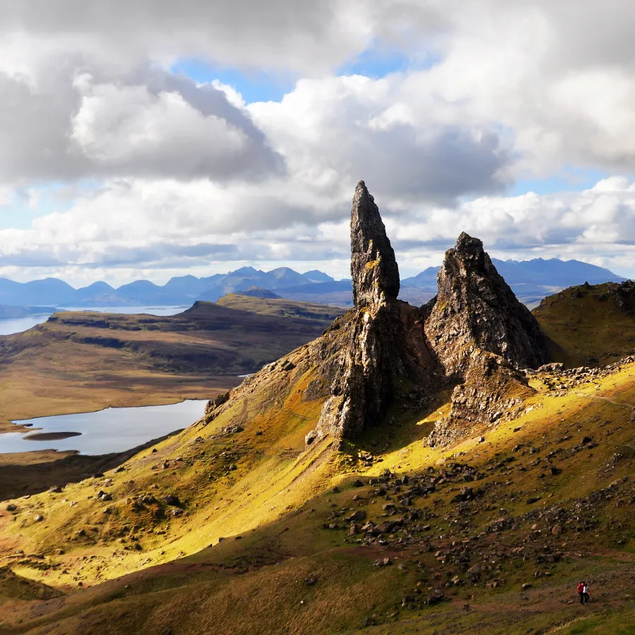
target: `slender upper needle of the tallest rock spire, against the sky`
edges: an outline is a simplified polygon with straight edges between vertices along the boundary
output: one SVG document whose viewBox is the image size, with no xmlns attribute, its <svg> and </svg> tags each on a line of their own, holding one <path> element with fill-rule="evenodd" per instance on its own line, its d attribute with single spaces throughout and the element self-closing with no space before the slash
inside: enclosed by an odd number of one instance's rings
<svg viewBox="0 0 635 635">
<path fill-rule="evenodd" d="M 357 309 L 395 300 L 399 267 L 375 199 L 364 181 L 357 183 L 350 218 L 350 274 Z"/>
</svg>

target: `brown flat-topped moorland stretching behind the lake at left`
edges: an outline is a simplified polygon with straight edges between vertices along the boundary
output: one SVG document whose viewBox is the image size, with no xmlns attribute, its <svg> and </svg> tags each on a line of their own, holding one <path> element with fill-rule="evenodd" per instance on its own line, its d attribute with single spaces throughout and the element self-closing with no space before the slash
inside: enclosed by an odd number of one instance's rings
<svg viewBox="0 0 635 635">
<path fill-rule="evenodd" d="M 211 397 L 332 321 L 331 309 L 309 319 L 258 302 L 197 302 L 168 317 L 64 312 L 0 337 L 0 431 L 12 419 Z"/>
</svg>

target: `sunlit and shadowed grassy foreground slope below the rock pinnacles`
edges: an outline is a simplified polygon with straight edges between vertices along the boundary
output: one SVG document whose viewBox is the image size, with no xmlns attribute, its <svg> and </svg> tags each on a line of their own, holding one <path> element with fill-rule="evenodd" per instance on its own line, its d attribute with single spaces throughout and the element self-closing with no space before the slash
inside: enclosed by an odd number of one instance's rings
<svg viewBox="0 0 635 635">
<path fill-rule="evenodd" d="M 634 632 L 634 362 L 537 374 L 529 412 L 452 448 L 422 443 L 440 396 L 307 449 L 312 346 L 121 468 L 12 501 L 0 633 Z"/>
</svg>

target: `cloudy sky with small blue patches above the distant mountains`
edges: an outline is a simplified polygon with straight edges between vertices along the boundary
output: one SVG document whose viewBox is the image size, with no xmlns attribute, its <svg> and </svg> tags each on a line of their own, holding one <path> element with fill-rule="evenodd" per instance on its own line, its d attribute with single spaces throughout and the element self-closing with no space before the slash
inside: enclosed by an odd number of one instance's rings
<svg viewBox="0 0 635 635">
<path fill-rule="evenodd" d="M 635 277 L 629 0 L 0 0 L 0 276 L 402 277 L 467 231 Z"/>
</svg>

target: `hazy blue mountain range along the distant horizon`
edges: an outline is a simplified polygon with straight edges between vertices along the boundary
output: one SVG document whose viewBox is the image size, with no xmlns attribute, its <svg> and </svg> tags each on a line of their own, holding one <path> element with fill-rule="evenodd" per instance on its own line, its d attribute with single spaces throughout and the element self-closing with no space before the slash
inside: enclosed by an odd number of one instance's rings
<svg viewBox="0 0 635 635">
<path fill-rule="evenodd" d="M 571 285 L 622 282 L 608 269 L 578 260 L 557 258 L 529 261 L 496 260 L 493 263 L 526 304 L 537 304 L 543 297 Z M 411 304 L 423 304 L 436 294 L 439 267 L 429 267 L 417 276 L 402 280 L 400 299 Z M 255 289 L 269 290 L 289 300 L 352 305 L 350 280 L 335 280 L 322 271 L 298 273 L 288 267 L 260 271 L 242 267 L 230 273 L 216 273 L 206 278 L 179 276 L 165 285 L 149 280 L 135 280 L 114 288 L 105 282 L 73 288 L 58 278 L 18 283 L 0 278 L 0 304 L 26 306 L 55 304 L 66 307 L 125 307 L 152 305 L 190 305 L 196 300 L 216 302 L 228 293 L 242 293 Z"/>
</svg>

